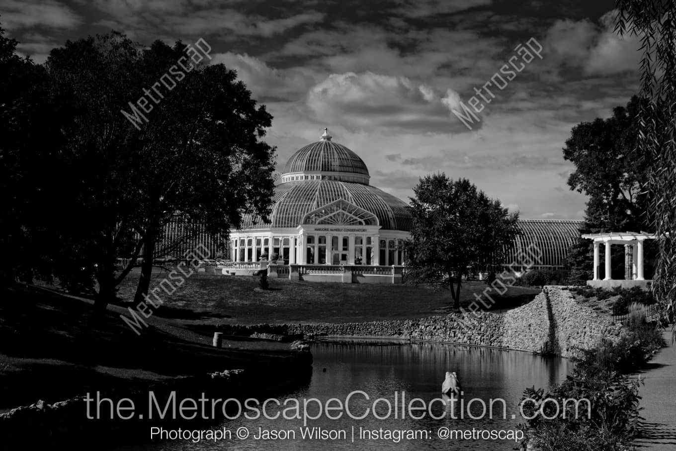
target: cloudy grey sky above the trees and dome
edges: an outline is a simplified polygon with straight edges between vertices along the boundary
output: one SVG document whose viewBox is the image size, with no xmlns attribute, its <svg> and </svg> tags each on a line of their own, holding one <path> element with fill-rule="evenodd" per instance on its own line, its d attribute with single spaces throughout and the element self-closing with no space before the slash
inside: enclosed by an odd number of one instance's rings
<svg viewBox="0 0 676 451">
<path fill-rule="evenodd" d="M 145 45 L 203 38 L 212 62 L 237 70 L 274 116 L 266 141 L 278 149 L 278 167 L 327 126 L 366 162 L 372 185 L 404 200 L 420 176 L 443 171 L 522 218 L 565 219 L 582 218 L 585 204 L 566 185 L 571 165 L 561 149 L 571 128 L 609 116 L 637 92 L 639 44 L 614 34 L 613 7 L 612 0 L 0 0 L 0 23 L 37 62 L 68 39 L 112 29 Z M 531 38 L 541 58 L 518 50 Z M 494 78 L 502 89 L 485 85 L 510 61 L 521 72 L 506 86 Z M 481 122 L 469 130 L 452 110 L 476 90 L 489 102 L 477 95 Z"/>
</svg>

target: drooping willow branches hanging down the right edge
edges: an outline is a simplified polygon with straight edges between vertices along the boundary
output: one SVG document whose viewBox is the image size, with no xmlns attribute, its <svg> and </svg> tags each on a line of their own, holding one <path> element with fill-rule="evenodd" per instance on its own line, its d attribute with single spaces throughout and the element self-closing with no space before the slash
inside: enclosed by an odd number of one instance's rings
<svg viewBox="0 0 676 451">
<path fill-rule="evenodd" d="M 673 320 L 676 312 L 676 4 L 661 0 L 618 0 L 615 30 L 636 34 L 643 51 L 637 151 L 648 165 L 650 220 L 658 239 L 652 290 Z"/>
</svg>

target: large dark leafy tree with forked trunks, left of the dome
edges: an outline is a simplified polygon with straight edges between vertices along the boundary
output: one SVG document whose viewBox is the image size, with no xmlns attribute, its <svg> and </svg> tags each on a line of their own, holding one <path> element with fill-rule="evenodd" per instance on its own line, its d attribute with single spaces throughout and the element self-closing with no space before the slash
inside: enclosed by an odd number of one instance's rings
<svg viewBox="0 0 676 451">
<path fill-rule="evenodd" d="M 270 208 L 274 148 L 261 138 L 271 116 L 235 72 L 196 66 L 191 55 L 180 42 L 141 49 L 113 32 L 68 41 L 45 64 L 53 99 L 68 105 L 59 156 L 69 194 L 59 222 L 68 227 L 58 229 L 78 252 L 77 264 L 62 269 L 95 277 L 98 308 L 139 255 L 143 300 L 156 243 L 174 215 L 226 235 L 243 214 Z M 181 59 L 191 70 L 178 69 Z M 129 120 L 121 110 L 133 115 L 130 103 L 139 110 L 141 97 L 151 105 L 147 121 Z M 120 273 L 118 256 L 131 256 Z"/>
</svg>

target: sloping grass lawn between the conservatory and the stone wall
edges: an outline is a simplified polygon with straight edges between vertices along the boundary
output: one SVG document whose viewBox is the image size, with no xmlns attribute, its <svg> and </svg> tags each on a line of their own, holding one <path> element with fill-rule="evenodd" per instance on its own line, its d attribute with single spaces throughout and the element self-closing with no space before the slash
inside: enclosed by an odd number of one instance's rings
<svg viewBox="0 0 676 451">
<path fill-rule="evenodd" d="M 151 288 L 168 275 L 168 270 L 153 272 Z M 132 272 L 118 293 L 121 300 L 133 300 L 139 272 Z M 383 319 L 419 318 L 452 311 L 447 290 L 411 285 L 295 282 L 268 279 L 270 290 L 258 289 L 257 277 L 207 275 L 203 272 L 187 278 L 172 295 L 160 291 L 164 304 L 154 314 L 175 318 L 183 323 L 256 324 L 256 323 L 347 323 Z M 461 305 L 468 306 L 487 285 L 472 281 L 463 285 Z M 495 291 L 493 310 L 506 304 L 531 300 L 538 289 L 510 287 L 504 297 Z M 485 298 L 484 298 L 485 299 Z"/>
</svg>

